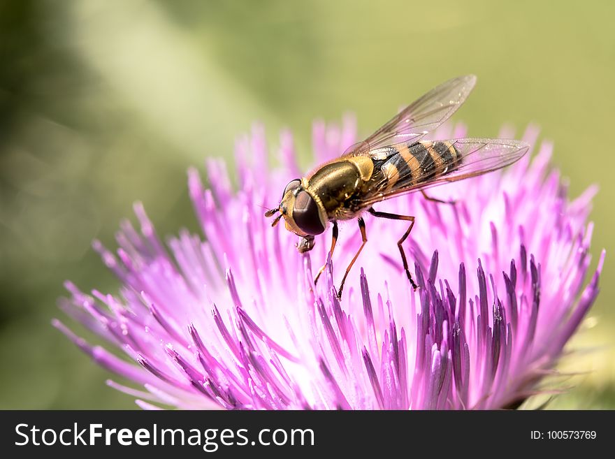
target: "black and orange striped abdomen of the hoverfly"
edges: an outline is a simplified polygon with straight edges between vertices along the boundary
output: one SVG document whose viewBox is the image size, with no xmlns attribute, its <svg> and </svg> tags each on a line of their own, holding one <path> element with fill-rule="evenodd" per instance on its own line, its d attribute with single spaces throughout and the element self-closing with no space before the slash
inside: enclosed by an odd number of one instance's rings
<svg viewBox="0 0 615 459">
<path fill-rule="evenodd" d="M 447 140 L 421 140 L 410 145 L 384 147 L 386 160 L 380 166 L 384 191 L 410 187 L 440 177 L 461 164 L 461 154 Z M 385 153 L 385 152 L 382 152 Z"/>
</svg>

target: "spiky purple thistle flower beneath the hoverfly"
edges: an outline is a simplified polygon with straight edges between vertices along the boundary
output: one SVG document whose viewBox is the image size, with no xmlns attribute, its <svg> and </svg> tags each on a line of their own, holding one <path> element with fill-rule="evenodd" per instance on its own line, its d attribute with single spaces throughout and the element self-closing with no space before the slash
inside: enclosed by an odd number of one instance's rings
<svg viewBox="0 0 615 459">
<path fill-rule="evenodd" d="M 355 132 L 352 119 L 342 128 L 315 124 L 317 161 L 338 156 Z M 441 127 L 432 137 L 464 133 Z M 529 129 L 523 140 L 536 138 Z M 598 295 L 605 257 L 584 287 L 596 190 L 567 201 L 549 169 L 551 148 L 542 143 L 532 163 L 526 155 L 507 170 L 431 191 L 456 205 L 420 194 L 382 203 L 379 210 L 417 218 L 406 247 L 423 287 L 412 290 L 396 257 L 403 225 L 367 216 L 363 268 L 351 272 L 340 303 L 335 284 L 359 231 L 340 227 L 335 268 L 328 260 L 314 286 L 330 236 L 302 255 L 295 235 L 270 228 L 263 208 L 301 174 L 287 132 L 282 167 L 268 170 L 256 127 L 236 148 L 239 191 L 222 161 L 208 160 L 210 189 L 189 170 L 205 240 L 181 231 L 163 244 L 136 204 L 140 231 L 124 221 L 115 255 L 94 242 L 122 282 L 120 296 L 66 283 L 71 298 L 61 308 L 122 358 L 54 324 L 97 363 L 141 386 L 108 382 L 147 409 L 514 407 L 553 370 Z"/>
</svg>

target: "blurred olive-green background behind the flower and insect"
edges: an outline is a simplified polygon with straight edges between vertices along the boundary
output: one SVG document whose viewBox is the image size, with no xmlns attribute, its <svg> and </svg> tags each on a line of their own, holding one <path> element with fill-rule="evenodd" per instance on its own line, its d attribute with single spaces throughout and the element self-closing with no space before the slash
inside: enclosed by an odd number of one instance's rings
<svg viewBox="0 0 615 459">
<path fill-rule="evenodd" d="M 254 120 L 294 131 L 356 112 L 361 133 L 447 78 L 479 76 L 470 135 L 542 127 L 577 196 L 600 184 L 593 254 L 612 257 L 615 3 L 605 1 L 1 1 L 0 408 L 133 408 L 50 326 L 62 282 L 115 292 L 141 200 L 161 235 L 197 225 L 188 166 L 231 156 Z M 559 408 L 615 408 L 612 259 L 575 338 Z"/>
</svg>

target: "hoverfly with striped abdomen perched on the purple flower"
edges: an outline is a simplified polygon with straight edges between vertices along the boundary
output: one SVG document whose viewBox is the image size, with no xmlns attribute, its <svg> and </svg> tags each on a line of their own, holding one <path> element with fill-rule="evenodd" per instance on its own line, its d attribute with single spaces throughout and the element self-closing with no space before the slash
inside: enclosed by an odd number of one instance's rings
<svg viewBox="0 0 615 459">
<path fill-rule="evenodd" d="M 421 191 L 427 199 L 443 203 L 429 198 L 424 189 L 509 166 L 528 151 L 529 146 L 518 140 L 421 140 L 456 112 L 475 83 L 475 75 L 466 75 L 435 87 L 366 140 L 349 147 L 342 156 L 319 166 L 307 177 L 291 180 L 277 208 L 265 213 L 266 217 L 273 217 L 280 212 L 272 226 L 284 217 L 287 230 L 303 238 L 297 245 L 301 253 L 310 251 L 314 236 L 323 233 L 329 223 L 333 224 L 330 256 L 338 240 L 338 220 L 357 219 L 363 243 L 346 269 L 338 298 L 342 296 L 352 265 L 368 241 L 363 212 L 409 222 L 397 246 L 407 278 L 417 289 L 403 249 L 403 242 L 414 226 L 414 217 L 379 212 L 372 205 L 412 191 Z M 325 266 L 320 268 L 314 282 Z"/>
</svg>

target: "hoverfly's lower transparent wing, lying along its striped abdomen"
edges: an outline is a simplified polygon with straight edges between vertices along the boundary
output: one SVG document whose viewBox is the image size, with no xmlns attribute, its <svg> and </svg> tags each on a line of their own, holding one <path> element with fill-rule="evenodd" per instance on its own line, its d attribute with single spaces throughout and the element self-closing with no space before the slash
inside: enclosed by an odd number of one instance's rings
<svg viewBox="0 0 615 459">
<path fill-rule="evenodd" d="M 431 172 L 427 172 L 430 169 L 428 163 L 433 163 L 431 156 L 427 156 L 424 161 L 415 162 L 414 166 L 405 162 L 403 168 L 392 168 L 397 170 L 393 175 L 386 176 L 381 173 L 380 177 L 376 176 L 359 199 L 359 207 L 368 207 L 400 194 L 489 173 L 518 161 L 530 148 L 528 144 L 519 140 L 462 138 L 448 142 L 455 147 L 458 160 L 451 164 L 446 172 L 437 173 L 433 168 Z M 404 161 L 404 159 L 399 154 L 390 156 L 382 163 L 380 170 L 386 170 L 386 163 L 393 161 Z M 389 187 L 388 184 L 393 182 L 393 186 Z"/>
</svg>

